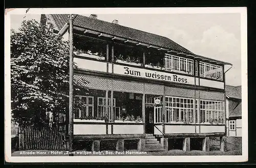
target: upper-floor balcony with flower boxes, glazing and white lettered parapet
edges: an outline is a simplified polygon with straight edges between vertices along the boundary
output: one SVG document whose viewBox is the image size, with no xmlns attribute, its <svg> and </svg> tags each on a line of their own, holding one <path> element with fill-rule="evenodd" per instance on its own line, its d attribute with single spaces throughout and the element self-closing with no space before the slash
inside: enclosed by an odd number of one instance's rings
<svg viewBox="0 0 256 168">
<path fill-rule="evenodd" d="M 169 54 L 126 43 L 74 36 L 75 62 L 82 70 L 224 88 L 223 66 L 181 53 Z M 198 73 L 199 71 L 199 73 Z M 195 80 L 196 77 L 196 80 Z"/>
</svg>

